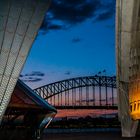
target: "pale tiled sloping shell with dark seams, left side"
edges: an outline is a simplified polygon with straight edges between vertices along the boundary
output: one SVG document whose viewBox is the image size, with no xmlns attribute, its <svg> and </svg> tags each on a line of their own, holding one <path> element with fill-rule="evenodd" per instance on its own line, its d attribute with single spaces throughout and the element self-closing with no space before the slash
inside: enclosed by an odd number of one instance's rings
<svg viewBox="0 0 140 140">
<path fill-rule="evenodd" d="M 0 1 L 0 121 L 43 21 L 48 2 Z"/>
</svg>

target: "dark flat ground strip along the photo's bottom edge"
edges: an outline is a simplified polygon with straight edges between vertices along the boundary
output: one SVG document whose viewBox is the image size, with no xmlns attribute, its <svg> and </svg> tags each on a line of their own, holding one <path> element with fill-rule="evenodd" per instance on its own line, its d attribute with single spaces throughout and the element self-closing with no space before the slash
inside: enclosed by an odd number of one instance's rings
<svg viewBox="0 0 140 140">
<path fill-rule="evenodd" d="M 80 132 L 80 133 L 48 133 L 42 140 L 139 140 L 135 138 L 122 138 L 120 132 Z"/>
</svg>

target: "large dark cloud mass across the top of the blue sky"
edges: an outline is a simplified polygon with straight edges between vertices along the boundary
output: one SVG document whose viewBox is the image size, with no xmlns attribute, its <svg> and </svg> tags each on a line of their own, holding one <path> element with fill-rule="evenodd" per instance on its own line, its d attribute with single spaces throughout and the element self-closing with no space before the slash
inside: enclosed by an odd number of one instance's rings
<svg viewBox="0 0 140 140">
<path fill-rule="evenodd" d="M 114 13 L 115 0 L 52 0 L 41 31 L 64 30 L 87 19 L 103 21 Z"/>
</svg>

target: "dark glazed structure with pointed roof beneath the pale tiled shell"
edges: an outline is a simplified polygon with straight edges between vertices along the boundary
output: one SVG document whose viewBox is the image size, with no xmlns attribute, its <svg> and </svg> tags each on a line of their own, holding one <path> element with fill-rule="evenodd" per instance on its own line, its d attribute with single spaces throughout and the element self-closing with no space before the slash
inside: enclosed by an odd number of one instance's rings
<svg viewBox="0 0 140 140">
<path fill-rule="evenodd" d="M 19 80 L 1 124 L 0 139 L 40 139 L 55 114 L 55 108 Z"/>
</svg>

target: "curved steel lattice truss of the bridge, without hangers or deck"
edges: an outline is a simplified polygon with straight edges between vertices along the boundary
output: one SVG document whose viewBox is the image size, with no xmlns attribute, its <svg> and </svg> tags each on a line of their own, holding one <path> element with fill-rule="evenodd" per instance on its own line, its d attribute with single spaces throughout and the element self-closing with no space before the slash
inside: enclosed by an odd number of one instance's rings
<svg viewBox="0 0 140 140">
<path fill-rule="evenodd" d="M 34 91 L 42 98 L 48 99 L 56 94 L 62 93 L 67 90 L 87 87 L 87 86 L 102 86 L 116 88 L 116 77 L 110 76 L 87 76 L 72 79 L 66 79 L 51 83 L 35 89 Z"/>
</svg>

